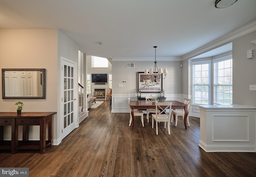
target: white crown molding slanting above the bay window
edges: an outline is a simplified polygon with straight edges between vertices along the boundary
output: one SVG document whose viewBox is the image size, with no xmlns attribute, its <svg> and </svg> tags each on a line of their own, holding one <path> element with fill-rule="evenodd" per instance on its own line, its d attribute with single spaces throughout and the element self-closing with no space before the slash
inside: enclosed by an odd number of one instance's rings
<svg viewBox="0 0 256 177">
<path fill-rule="evenodd" d="M 245 34 L 248 34 L 250 32 L 254 32 L 256 30 L 256 20 L 242 26 L 241 28 L 238 28 L 237 30 L 234 30 L 233 32 L 230 32 L 192 52 L 189 52 L 188 54 L 185 54 L 181 56 L 182 60 L 190 59 L 193 57 L 196 57 L 198 55 L 204 54 L 205 52 L 209 52 L 210 50 L 213 50 L 217 47 L 222 46 L 223 44 L 227 44 L 228 42 L 231 42 L 232 40 L 239 38 L 241 36 L 244 36 Z"/>
</svg>

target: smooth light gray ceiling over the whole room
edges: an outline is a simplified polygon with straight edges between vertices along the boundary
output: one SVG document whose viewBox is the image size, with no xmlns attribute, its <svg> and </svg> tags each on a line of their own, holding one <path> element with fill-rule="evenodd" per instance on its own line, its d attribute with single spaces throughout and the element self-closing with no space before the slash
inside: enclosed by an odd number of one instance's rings
<svg viewBox="0 0 256 177">
<path fill-rule="evenodd" d="M 0 0 L 0 28 L 58 28 L 92 56 L 151 58 L 158 46 L 157 57 L 182 58 L 256 20 L 256 0 L 221 9 L 214 2 Z"/>
</svg>

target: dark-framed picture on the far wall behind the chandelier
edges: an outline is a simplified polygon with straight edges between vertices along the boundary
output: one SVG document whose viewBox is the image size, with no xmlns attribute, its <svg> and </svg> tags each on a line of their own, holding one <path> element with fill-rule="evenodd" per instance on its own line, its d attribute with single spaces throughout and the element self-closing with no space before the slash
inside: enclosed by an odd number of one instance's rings
<svg viewBox="0 0 256 177">
<path fill-rule="evenodd" d="M 138 88 L 141 93 L 159 93 L 162 89 L 163 80 L 162 76 L 159 79 L 156 79 L 152 76 L 150 78 L 150 74 L 144 74 L 144 72 L 138 72 Z"/>
</svg>

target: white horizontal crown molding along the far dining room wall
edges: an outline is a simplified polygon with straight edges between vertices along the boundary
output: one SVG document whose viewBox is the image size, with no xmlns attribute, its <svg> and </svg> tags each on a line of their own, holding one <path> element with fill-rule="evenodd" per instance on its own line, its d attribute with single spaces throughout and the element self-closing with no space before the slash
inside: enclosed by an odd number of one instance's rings
<svg viewBox="0 0 256 177">
<path fill-rule="evenodd" d="M 112 62 L 154 62 L 154 57 L 113 57 Z M 182 61 L 180 57 L 157 57 L 157 62 Z"/>
</svg>

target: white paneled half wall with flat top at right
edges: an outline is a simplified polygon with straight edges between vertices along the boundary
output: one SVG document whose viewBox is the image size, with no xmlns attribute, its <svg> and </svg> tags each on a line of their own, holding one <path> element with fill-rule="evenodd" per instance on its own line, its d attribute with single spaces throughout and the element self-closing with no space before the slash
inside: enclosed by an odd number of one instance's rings
<svg viewBox="0 0 256 177">
<path fill-rule="evenodd" d="M 256 107 L 200 105 L 199 146 L 206 152 L 256 152 Z"/>
</svg>

